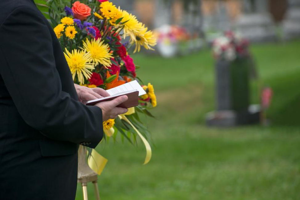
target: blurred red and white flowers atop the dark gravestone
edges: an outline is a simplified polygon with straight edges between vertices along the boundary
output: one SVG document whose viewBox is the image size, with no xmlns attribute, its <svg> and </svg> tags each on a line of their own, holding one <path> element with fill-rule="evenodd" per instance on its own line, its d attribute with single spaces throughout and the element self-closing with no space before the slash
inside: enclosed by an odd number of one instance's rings
<svg viewBox="0 0 300 200">
<path fill-rule="evenodd" d="M 248 40 L 232 31 L 226 31 L 223 36 L 213 41 L 213 55 L 216 59 L 227 61 L 245 58 L 249 56 L 248 46 Z"/>
</svg>

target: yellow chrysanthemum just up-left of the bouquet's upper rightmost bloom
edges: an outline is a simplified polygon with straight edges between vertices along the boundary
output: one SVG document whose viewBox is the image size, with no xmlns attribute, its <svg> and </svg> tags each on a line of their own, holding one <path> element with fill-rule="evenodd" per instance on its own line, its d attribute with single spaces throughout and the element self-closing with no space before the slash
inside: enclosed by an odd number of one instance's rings
<svg viewBox="0 0 300 200">
<path fill-rule="evenodd" d="M 136 19 L 136 16 L 129 14 L 126 10 L 122 11 L 121 17 L 123 18 L 121 22 L 126 22 L 123 25 L 124 38 L 130 36 L 132 41 L 136 41 L 136 34 L 141 34 L 145 29 L 143 24 Z"/>
</svg>

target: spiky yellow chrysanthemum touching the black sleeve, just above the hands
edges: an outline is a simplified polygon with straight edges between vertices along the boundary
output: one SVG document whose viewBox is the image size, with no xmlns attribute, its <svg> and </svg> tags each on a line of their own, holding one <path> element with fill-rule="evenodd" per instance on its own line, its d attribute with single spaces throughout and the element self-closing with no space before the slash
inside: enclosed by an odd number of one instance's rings
<svg viewBox="0 0 300 200">
<path fill-rule="evenodd" d="M 70 53 L 67 48 L 66 53 L 64 54 L 71 70 L 73 80 L 77 75 L 79 83 L 84 84 L 84 78 L 89 79 L 92 74 L 90 70 L 95 69 L 95 64 L 91 63 L 92 59 L 90 54 L 83 50 L 77 49 L 72 50 L 72 53 Z"/>
</svg>

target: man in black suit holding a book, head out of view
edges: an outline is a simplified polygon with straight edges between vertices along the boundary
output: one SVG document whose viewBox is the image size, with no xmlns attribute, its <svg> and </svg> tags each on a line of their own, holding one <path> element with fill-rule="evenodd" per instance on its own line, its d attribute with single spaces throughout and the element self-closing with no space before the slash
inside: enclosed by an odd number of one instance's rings
<svg viewBox="0 0 300 200">
<path fill-rule="evenodd" d="M 79 144 L 95 148 L 126 96 L 73 84 L 53 29 L 33 0 L 0 1 L 0 199 L 74 199 Z M 78 95 L 78 94 L 79 95 Z"/>
</svg>

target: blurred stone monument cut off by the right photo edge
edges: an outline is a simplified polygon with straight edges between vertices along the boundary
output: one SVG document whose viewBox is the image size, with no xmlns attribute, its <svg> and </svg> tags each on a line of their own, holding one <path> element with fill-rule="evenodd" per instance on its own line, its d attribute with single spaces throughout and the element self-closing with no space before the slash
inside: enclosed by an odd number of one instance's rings
<svg viewBox="0 0 300 200">
<path fill-rule="evenodd" d="M 283 21 L 283 34 L 285 39 L 300 37 L 300 0 L 289 0 Z"/>
</svg>

